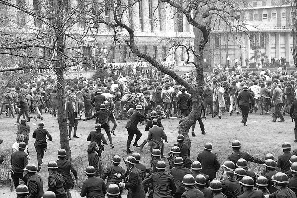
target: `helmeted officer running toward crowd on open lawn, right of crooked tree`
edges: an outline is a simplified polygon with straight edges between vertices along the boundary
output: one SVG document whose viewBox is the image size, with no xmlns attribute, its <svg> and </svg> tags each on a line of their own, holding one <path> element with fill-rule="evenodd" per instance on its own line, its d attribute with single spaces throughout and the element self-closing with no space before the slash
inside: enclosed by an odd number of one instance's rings
<svg viewBox="0 0 297 198">
<path fill-rule="evenodd" d="M 248 91 L 248 86 L 244 86 L 243 91 L 238 94 L 237 106 L 241 109 L 241 123 L 243 123 L 243 126 L 247 126 L 248 111 L 254 107 L 254 98 L 251 92 Z"/>
</svg>

